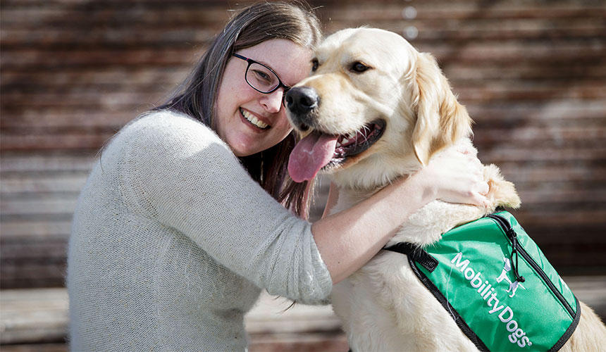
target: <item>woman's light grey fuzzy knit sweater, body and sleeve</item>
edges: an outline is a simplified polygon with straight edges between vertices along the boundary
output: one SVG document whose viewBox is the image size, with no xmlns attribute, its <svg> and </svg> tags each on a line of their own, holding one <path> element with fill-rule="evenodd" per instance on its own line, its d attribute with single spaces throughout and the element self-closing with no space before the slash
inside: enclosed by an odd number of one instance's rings
<svg viewBox="0 0 606 352">
<path fill-rule="evenodd" d="M 68 253 L 73 351 L 243 351 L 261 288 L 325 302 L 311 235 L 208 127 L 161 111 L 125 126 L 80 194 Z"/>
</svg>

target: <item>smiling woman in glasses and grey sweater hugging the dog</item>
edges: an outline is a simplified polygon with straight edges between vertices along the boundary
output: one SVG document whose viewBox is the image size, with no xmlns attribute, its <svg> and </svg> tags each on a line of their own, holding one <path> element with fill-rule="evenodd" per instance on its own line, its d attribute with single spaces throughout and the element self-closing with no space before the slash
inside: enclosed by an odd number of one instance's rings
<svg viewBox="0 0 606 352">
<path fill-rule="evenodd" d="M 261 289 L 326 303 L 333 282 L 428 201 L 483 202 L 478 161 L 455 153 L 455 171 L 430 163 L 313 225 L 287 210 L 307 204 L 305 185 L 286 181 L 295 141 L 282 97 L 309 72 L 319 38 L 300 6 L 245 9 L 183 92 L 106 146 L 70 237 L 74 351 L 242 351 L 243 316 Z M 256 75 L 278 84 L 261 87 Z"/>
</svg>

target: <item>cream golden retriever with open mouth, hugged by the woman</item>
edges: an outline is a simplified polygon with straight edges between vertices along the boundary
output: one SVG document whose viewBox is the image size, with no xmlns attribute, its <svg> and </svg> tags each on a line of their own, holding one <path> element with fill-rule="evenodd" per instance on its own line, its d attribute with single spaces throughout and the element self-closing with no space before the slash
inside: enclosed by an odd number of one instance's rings
<svg viewBox="0 0 606 352">
<path fill-rule="evenodd" d="M 400 35 L 358 28 L 319 46 L 311 77 L 287 94 L 302 140 L 289 171 L 301 182 L 322 170 L 340 187 L 338 212 L 409 175 L 437 153 L 471 142 L 471 119 L 430 54 Z M 433 201 L 412 215 L 390 244 L 426 246 L 497 206 L 517 207 L 512 183 L 485 167 L 490 209 Z M 333 307 L 353 351 L 476 351 L 421 284 L 402 254 L 382 251 L 333 289 Z M 581 320 L 562 351 L 606 348 L 606 328 L 581 303 Z"/>
</svg>

